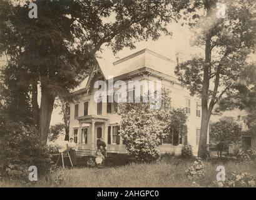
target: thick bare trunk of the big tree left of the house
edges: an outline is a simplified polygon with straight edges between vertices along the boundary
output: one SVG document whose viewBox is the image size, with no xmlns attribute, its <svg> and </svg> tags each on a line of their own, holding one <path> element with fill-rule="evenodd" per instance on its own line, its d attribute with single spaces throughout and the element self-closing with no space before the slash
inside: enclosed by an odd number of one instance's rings
<svg viewBox="0 0 256 200">
<path fill-rule="evenodd" d="M 46 83 L 41 82 L 41 106 L 39 118 L 39 134 L 42 144 L 47 143 L 51 114 L 56 96 L 51 93 Z"/>
</svg>

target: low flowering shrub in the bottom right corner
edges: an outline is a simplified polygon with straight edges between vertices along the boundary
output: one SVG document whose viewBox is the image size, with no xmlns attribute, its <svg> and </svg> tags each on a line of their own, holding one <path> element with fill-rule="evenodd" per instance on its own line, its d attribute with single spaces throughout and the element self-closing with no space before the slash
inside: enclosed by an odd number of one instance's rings
<svg viewBox="0 0 256 200">
<path fill-rule="evenodd" d="M 214 181 L 217 187 L 255 187 L 255 177 L 249 173 L 232 173 L 232 176 L 225 181 Z"/>
</svg>

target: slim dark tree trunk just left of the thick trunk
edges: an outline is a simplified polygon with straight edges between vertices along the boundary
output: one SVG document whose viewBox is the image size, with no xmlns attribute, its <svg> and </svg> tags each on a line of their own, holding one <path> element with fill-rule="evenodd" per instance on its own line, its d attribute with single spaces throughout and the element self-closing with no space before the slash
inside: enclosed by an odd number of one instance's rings
<svg viewBox="0 0 256 200">
<path fill-rule="evenodd" d="M 38 81 L 32 83 L 32 114 L 36 128 L 39 128 Z"/>
</svg>

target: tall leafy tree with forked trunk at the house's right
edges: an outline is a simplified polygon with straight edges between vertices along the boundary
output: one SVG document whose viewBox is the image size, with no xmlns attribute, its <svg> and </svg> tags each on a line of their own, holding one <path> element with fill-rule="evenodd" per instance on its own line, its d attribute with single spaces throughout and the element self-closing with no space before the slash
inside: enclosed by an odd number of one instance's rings
<svg viewBox="0 0 256 200">
<path fill-rule="evenodd" d="M 217 1 L 197 1 L 193 14 L 185 16 L 194 32 L 193 46 L 203 55 L 178 64 L 175 73 L 192 95 L 202 98 L 202 123 L 198 155 L 206 151 L 207 130 L 215 104 L 237 94 L 243 71 L 255 51 L 256 3 L 248 0 L 222 1 L 225 18 L 218 17 Z"/>
</svg>

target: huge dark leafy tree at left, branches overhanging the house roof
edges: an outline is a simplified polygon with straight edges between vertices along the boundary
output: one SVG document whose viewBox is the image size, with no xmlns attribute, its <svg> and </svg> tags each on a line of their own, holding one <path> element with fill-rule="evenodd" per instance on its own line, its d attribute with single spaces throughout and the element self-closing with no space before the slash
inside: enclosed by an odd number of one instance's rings
<svg viewBox="0 0 256 200">
<path fill-rule="evenodd" d="M 29 2 L 13 5 L 0 2 L 1 51 L 8 63 L 23 70 L 26 85 L 41 87 L 41 104 L 33 98 L 33 118 L 45 144 L 54 100 L 79 84 L 97 65 L 96 53 L 106 45 L 114 53 L 135 42 L 156 40 L 160 33 L 170 34 L 168 22 L 177 20 L 188 0 L 165 1 L 33 1 L 38 18 L 29 19 Z M 10 66 L 11 67 L 11 66 Z M 38 119 L 36 119 L 38 118 Z"/>
</svg>

